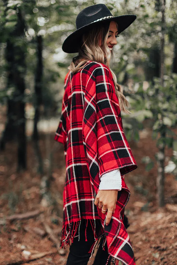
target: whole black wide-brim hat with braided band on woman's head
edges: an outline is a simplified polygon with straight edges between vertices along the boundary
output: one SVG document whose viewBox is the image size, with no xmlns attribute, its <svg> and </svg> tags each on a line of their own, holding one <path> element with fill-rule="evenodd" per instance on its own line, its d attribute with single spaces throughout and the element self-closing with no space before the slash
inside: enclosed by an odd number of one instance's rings
<svg viewBox="0 0 177 265">
<path fill-rule="evenodd" d="M 136 15 L 113 16 L 105 4 L 88 6 L 77 15 L 76 30 L 65 39 L 62 49 L 67 53 L 78 52 L 83 33 L 95 24 L 102 23 L 102 21 L 115 21 L 118 24 L 118 34 L 120 34 L 132 24 L 136 17 Z"/>
</svg>

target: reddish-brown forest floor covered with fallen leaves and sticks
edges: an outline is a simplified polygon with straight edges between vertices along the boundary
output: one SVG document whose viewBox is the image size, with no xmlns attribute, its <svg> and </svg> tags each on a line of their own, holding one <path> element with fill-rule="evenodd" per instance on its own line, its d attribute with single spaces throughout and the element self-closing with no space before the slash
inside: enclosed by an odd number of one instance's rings
<svg viewBox="0 0 177 265">
<path fill-rule="evenodd" d="M 152 140 L 151 134 L 151 129 L 146 127 L 140 132 L 138 143 L 130 142 L 138 168 L 125 175 L 131 192 L 125 207 L 130 223 L 127 232 L 137 265 L 172 265 L 177 264 L 177 180 L 174 175 L 165 174 L 165 206 L 158 208 L 157 166 L 147 172 L 142 163 L 145 155 L 155 161 L 156 140 Z M 47 206 L 45 199 L 41 200 L 41 176 L 37 173 L 37 158 L 30 135 L 25 172 L 16 173 L 15 142 L 7 143 L 6 150 L 0 154 L 0 265 L 64 265 L 67 260 L 68 247 L 61 253 L 65 255 L 59 255 L 56 248 L 62 229 L 65 161 L 63 146 L 53 138 L 54 132 L 41 133 L 39 141 L 45 168 L 48 168 L 49 153 L 54 148 L 50 194 L 55 203 L 51 206 Z M 165 165 L 171 155 L 172 150 L 166 149 Z M 21 215 L 27 213 L 29 216 Z"/>
</svg>

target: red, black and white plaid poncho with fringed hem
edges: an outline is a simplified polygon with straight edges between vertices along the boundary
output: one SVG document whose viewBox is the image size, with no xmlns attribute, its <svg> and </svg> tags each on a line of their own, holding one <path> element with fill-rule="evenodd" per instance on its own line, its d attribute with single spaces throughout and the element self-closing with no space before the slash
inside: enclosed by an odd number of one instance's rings
<svg viewBox="0 0 177 265">
<path fill-rule="evenodd" d="M 81 219 L 90 219 L 94 232 L 99 219 L 110 256 L 117 264 L 120 260 L 133 265 L 134 252 L 123 224 L 130 197 L 124 174 L 136 169 L 137 164 L 124 135 L 112 73 L 105 64 L 88 61 L 79 72 L 68 72 L 64 88 L 55 133 L 55 140 L 63 143 L 66 162 L 61 247 L 76 235 Z M 111 222 L 105 226 L 105 215 L 94 200 L 100 177 L 115 169 L 120 170 L 122 190 L 118 191 Z M 95 234 L 95 240 L 98 237 Z"/>
</svg>

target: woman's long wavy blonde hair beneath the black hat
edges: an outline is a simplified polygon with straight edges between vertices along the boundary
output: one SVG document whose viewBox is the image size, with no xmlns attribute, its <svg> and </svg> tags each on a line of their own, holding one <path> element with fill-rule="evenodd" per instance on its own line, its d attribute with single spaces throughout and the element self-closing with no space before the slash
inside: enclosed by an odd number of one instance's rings
<svg viewBox="0 0 177 265">
<path fill-rule="evenodd" d="M 95 61 L 105 64 L 107 67 L 110 65 L 112 52 L 109 50 L 106 41 L 109 35 L 109 23 L 102 21 L 101 25 L 94 25 L 88 32 L 82 35 L 82 45 L 78 49 L 78 55 L 73 57 L 68 69 L 74 74 L 84 67 L 84 63 L 87 61 Z M 117 24 L 117 23 L 116 23 Z M 101 39 L 101 47 L 99 46 L 99 40 Z M 110 67 L 109 67 L 110 69 Z M 120 110 L 130 114 L 131 112 L 126 109 L 130 104 L 123 95 L 123 90 L 119 84 L 117 84 L 117 78 L 112 69 L 110 69 L 114 85 L 115 92 L 119 100 Z"/>
</svg>

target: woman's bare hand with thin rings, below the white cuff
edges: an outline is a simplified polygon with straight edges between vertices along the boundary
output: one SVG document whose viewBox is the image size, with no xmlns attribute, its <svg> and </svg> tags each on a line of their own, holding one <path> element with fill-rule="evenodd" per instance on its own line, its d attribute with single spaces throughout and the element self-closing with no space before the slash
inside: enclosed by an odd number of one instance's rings
<svg viewBox="0 0 177 265">
<path fill-rule="evenodd" d="M 117 190 L 100 190 L 96 195 L 94 204 L 102 208 L 102 213 L 106 214 L 107 211 L 106 226 L 109 225 L 112 213 L 115 211 L 117 193 Z"/>
</svg>

